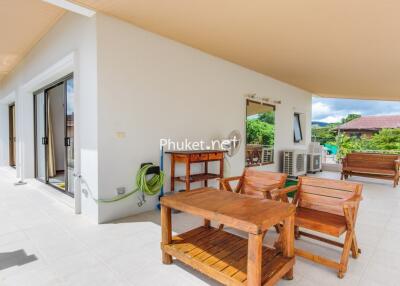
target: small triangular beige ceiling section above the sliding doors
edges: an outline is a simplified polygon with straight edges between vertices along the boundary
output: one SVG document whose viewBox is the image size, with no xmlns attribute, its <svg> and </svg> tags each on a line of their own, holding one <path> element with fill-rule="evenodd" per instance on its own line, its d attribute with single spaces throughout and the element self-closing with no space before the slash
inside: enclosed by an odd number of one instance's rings
<svg viewBox="0 0 400 286">
<path fill-rule="evenodd" d="M 63 13 L 40 0 L 0 0 L 0 80 Z"/>
</svg>

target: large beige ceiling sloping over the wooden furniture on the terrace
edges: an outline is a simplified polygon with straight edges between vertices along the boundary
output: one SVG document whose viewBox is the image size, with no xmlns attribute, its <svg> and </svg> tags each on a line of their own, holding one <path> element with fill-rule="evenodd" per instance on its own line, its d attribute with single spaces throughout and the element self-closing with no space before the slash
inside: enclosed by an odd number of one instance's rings
<svg viewBox="0 0 400 286">
<path fill-rule="evenodd" d="M 397 0 L 72 0 L 327 97 L 400 100 Z"/>
</svg>

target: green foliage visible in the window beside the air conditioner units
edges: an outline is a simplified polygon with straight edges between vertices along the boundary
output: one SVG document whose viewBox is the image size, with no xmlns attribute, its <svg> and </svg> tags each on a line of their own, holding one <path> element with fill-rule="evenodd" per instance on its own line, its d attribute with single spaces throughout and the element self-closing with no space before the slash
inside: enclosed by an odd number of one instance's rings
<svg viewBox="0 0 400 286">
<path fill-rule="evenodd" d="M 246 121 L 246 139 L 248 144 L 274 145 L 275 127 L 259 119 Z"/>
</svg>

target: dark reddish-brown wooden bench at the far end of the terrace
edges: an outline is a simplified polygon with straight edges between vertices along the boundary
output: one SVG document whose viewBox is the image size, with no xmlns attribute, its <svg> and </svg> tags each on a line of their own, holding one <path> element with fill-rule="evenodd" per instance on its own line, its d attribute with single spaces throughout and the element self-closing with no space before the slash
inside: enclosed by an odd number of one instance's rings
<svg viewBox="0 0 400 286">
<path fill-rule="evenodd" d="M 343 159 L 342 177 L 362 177 L 393 180 L 393 187 L 399 184 L 400 156 L 377 153 L 350 153 Z"/>
</svg>

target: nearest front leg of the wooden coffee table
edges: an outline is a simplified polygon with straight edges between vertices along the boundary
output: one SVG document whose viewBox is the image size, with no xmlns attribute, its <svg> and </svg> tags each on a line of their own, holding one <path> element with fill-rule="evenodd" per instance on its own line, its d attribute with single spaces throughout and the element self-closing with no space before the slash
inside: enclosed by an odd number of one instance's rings
<svg viewBox="0 0 400 286">
<path fill-rule="evenodd" d="M 262 242 L 262 233 L 249 233 L 247 249 L 247 286 L 261 285 Z"/>
</svg>

